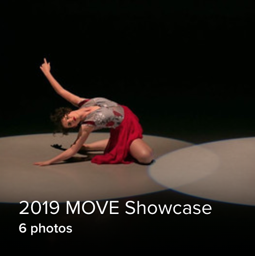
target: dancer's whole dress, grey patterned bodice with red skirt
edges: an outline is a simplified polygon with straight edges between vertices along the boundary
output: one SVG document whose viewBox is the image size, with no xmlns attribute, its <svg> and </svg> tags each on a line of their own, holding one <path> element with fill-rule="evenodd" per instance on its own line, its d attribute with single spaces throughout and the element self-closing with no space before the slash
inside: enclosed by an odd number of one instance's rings
<svg viewBox="0 0 255 256">
<path fill-rule="evenodd" d="M 103 155 L 96 155 L 91 162 L 96 164 L 130 164 L 136 160 L 131 156 L 131 143 L 143 138 L 143 129 L 138 117 L 126 106 L 105 98 L 83 100 L 78 107 L 100 108 L 89 113 L 82 125 L 95 129 L 110 128 L 110 138 Z"/>
</svg>

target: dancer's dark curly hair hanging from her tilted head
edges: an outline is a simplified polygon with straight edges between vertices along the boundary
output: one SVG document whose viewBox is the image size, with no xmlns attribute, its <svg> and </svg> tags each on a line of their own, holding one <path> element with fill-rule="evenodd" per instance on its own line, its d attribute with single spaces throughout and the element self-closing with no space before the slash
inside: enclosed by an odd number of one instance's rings
<svg viewBox="0 0 255 256">
<path fill-rule="evenodd" d="M 51 121 L 55 124 L 56 129 L 54 133 L 62 132 L 64 135 L 68 134 L 69 128 L 64 128 L 62 124 L 62 119 L 66 114 L 69 114 L 72 111 L 69 107 L 59 107 L 55 109 L 54 114 L 50 115 Z"/>
</svg>

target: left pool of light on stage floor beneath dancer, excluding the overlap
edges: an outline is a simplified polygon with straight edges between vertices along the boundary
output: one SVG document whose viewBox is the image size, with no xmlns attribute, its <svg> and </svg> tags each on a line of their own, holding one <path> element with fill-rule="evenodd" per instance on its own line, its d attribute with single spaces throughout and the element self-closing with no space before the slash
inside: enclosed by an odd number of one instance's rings
<svg viewBox="0 0 255 256">
<path fill-rule="evenodd" d="M 97 165 L 86 161 L 86 155 L 77 154 L 75 157 L 85 161 L 45 167 L 33 165 L 61 152 L 50 145 L 61 144 L 68 148 L 76 136 L 70 133 L 68 136 L 37 134 L 1 138 L 0 202 L 101 200 L 167 189 L 149 176 L 148 166 L 135 163 Z M 107 137 L 108 133 L 96 132 L 90 134 L 87 142 Z M 144 139 L 154 149 L 156 158 L 191 145 L 149 135 Z"/>
</svg>

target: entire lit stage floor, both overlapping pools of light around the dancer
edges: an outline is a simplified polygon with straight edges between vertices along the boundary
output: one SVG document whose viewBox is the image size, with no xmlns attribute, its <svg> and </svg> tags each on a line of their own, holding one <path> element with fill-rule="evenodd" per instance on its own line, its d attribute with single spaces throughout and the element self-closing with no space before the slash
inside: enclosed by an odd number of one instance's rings
<svg viewBox="0 0 255 256">
<path fill-rule="evenodd" d="M 88 142 L 107 136 L 92 133 Z M 210 200 L 255 205 L 255 138 L 192 145 L 145 135 L 155 151 L 156 161 L 149 166 L 96 165 L 81 154 L 76 155 L 81 162 L 33 165 L 60 153 L 51 144 L 68 148 L 75 138 L 75 133 L 1 138 L 0 202 L 76 202 L 171 189 Z"/>
</svg>

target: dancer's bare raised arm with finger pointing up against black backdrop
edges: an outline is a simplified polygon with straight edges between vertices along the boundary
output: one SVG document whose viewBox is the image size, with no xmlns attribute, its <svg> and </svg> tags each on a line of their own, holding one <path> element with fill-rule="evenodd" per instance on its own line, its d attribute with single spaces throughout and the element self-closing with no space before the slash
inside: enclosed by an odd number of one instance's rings
<svg viewBox="0 0 255 256">
<path fill-rule="evenodd" d="M 60 95 L 62 96 L 65 100 L 69 101 L 71 104 L 74 106 L 78 106 L 78 104 L 84 100 L 84 98 L 81 98 L 77 95 L 74 95 L 73 93 L 67 91 L 64 89 L 58 81 L 52 76 L 50 72 L 50 63 L 46 61 L 44 58 L 44 63 L 40 66 L 41 70 L 43 71 L 43 74 L 53 87 L 53 89 Z"/>
</svg>

